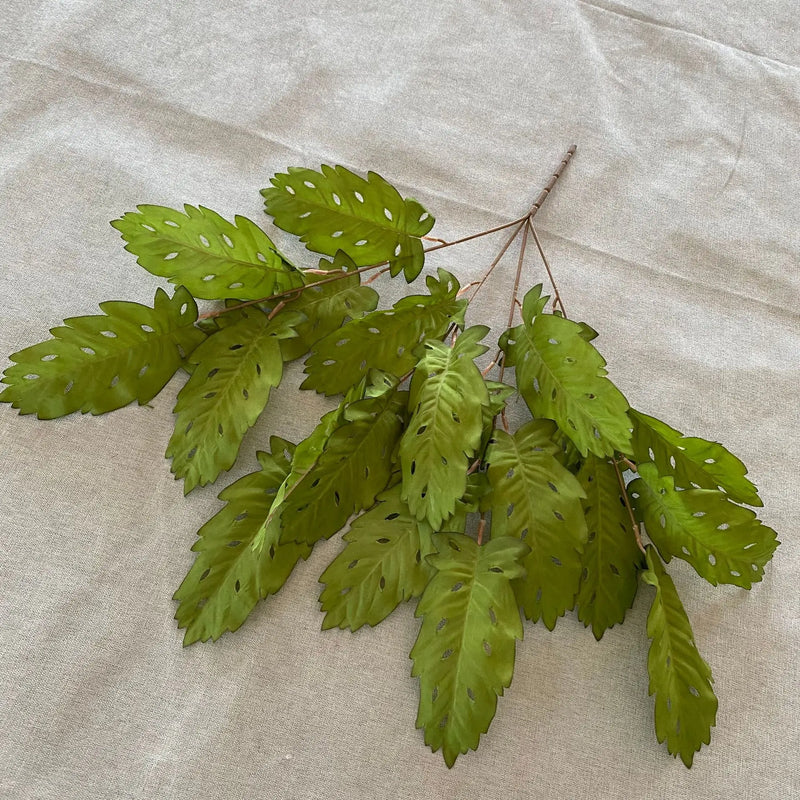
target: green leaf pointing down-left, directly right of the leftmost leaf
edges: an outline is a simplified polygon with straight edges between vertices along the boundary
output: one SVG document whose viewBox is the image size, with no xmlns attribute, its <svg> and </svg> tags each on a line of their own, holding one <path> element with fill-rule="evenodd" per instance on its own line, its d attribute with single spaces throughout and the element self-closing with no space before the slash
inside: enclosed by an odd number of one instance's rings
<svg viewBox="0 0 800 800">
<path fill-rule="evenodd" d="M 239 313 L 192 353 L 195 369 L 178 393 L 166 457 L 175 476 L 184 478 L 184 494 L 233 466 L 245 433 L 281 381 L 279 340 L 294 336 L 298 317 L 283 313 L 269 320 L 254 308 Z"/>
</svg>

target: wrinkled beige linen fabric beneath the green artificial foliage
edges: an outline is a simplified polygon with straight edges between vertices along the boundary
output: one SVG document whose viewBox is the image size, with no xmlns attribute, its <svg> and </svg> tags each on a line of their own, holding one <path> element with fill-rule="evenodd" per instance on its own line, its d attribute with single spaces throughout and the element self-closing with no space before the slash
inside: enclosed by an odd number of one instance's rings
<svg viewBox="0 0 800 800">
<path fill-rule="evenodd" d="M 171 596 L 217 493 L 329 403 L 292 369 L 237 467 L 184 499 L 152 403 L 41 422 L 0 405 L 0 796 L 789 798 L 797 778 L 800 27 L 790 0 L 4 0 L 0 354 L 152 301 L 108 222 L 203 204 L 269 227 L 289 165 L 372 169 L 446 239 L 536 219 L 570 316 L 631 405 L 723 442 L 782 541 L 751 592 L 670 567 L 720 706 L 691 771 L 655 740 L 643 587 L 600 643 L 525 625 L 477 753 L 415 730 L 413 605 L 320 632 L 320 545 L 236 634 L 181 647 Z M 272 233 L 272 231 L 270 231 Z M 315 264 L 288 235 L 279 246 Z M 466 283 L 498 236 L 432 254 Z M 508 313 L 516 251 L 468 321 Z M 546 280 L 531 254 L 524 285 Z M 404 287 L 382 279 L 388 300 Z"/>
</svg>

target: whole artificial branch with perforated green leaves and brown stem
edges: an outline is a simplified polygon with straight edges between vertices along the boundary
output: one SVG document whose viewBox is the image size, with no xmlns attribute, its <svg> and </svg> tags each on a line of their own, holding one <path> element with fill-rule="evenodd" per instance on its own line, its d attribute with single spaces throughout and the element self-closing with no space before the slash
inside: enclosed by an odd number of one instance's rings
<svg viewBox="0 0 800 800">
<path fill-rule="evenodd" d="M 500 226 L 523 232 L 523 251 L 559 173 L 531 212 Z M 567 319 L 557 290 L 550 311 L 541 286 L 528 291 L 512 326 L 515 287 L 498 380 L 495 362 L 476 365 L 489 329 L 465 327 L 452 274 L 439 269 L 425 293 L 377 310 L 361 274 L 417 279 L 434 223 L 379 175 L 290 168 L 262 194 L 279 228 L 328 258 L 299 269 L 244 217 L 139 206 L 112 225 L 142 267 L 177 285 L 172 296 L 158 289 L 152 307 L 111 301 L 66 319 L 11 356 L 0 400 L 42 419 L 101 414 L 149 402 L 183 367 L 166 455 L 189 492 L 233 466 L 284 363 L 305 356 L 301 388 L 339 403 L 300 443 L 273 436 L 259 469 L 221 492 L 175 593 L 184 643 L 236 630 L 316 542 L 347 527 L 320 579 L 322 627 L 377 625 L 417 599 L 417 726 L 452 766 L 477 748 L 510 685 L 520 609 L 552 629 L 577 608 L 599 640 L 644 581 L 655 590 L 656 735 L 691 766 L 717 699 L 665 562 L 688 561 L 714 585 L 761 580 L 778 542 L 748 508 L 761 500 L 742 462 L 630 408 L 597 334 Z M 196 299 L 224 306 L 198 315 Z M 503 381 L 511 367 L 515 385 Z M 531 419 L 512 432 L 515 394 Z"/>
</svg>

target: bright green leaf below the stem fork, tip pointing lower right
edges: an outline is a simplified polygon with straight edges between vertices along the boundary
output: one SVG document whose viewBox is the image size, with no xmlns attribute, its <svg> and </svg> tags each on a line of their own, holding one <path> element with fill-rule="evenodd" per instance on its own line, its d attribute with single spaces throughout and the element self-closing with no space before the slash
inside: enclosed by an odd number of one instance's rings
<svg viewBox="0 0 800 800">
<path fill-rule="evenodd" d="M 541 285 L 531 289 L 523 324 L 500 339 L 506 365 L 516 367 L 520 394 L 533 416 L 555 420 L 581 455 L 630 453 L 628 402 L 606 377 L 606 362 L 587 341 L 586 328 L 541 313 L 547 299 Z"/>
</svg>

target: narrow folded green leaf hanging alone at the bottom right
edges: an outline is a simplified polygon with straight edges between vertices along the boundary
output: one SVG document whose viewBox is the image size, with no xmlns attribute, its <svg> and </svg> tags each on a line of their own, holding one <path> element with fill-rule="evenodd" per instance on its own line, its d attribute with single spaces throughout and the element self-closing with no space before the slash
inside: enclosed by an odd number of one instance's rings
<svg viewBox="0 0 800 800">
<path fill-rule="evenodd" d="M 680 755 L 687 767 L 694 754 L 711 741 L 717 720 L 717 698 L 711 688 L 711 668 L 697 651 L 689 618 L 672 578 L 652 547 L 647 547 L 646 583 L 656 589 L 647 617 L 652 639 L 647 657 L 650 694 L 656 696 L 655 724 L 659 742 Z"/>
</svg>

